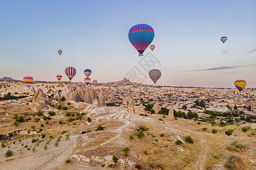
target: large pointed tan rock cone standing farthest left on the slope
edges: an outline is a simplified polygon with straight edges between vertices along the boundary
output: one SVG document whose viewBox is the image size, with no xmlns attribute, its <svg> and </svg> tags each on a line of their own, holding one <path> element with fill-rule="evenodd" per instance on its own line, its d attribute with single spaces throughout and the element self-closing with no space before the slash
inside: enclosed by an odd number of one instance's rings
<svg viewBox="0 0 256 170">
<path fill-rule="evenodd" d="M 49 104 L 49 101 L 47 100 L 46 94 L 44 94 L 43 90 L 39 88 L 30 107 L 32 111 L 37 112 L 38 110 L 46 109 L 47 104 Z"/>
</svg>

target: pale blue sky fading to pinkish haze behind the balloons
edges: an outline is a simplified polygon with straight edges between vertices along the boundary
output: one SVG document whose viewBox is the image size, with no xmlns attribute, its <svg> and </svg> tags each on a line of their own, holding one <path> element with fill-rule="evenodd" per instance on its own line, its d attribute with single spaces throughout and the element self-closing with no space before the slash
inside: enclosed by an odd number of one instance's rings
<svg viewBox="0 0 256 170">
<path fill-rule="evenodd" d="M 0 77 L 68 80 L 64 70 L 73 66 L 72 82 L 83 82 L 85 69 L 91 79 L 112 82 L 137 66 L 147 76 L 143 83 L 152 84 L 127 36 L 146 23 L 161 62 L 157 84 L 234 87 L 245 79 L 246 87 L 256 87 L 255 8 L 255 0 L 0 1 Z"/>
</svg>

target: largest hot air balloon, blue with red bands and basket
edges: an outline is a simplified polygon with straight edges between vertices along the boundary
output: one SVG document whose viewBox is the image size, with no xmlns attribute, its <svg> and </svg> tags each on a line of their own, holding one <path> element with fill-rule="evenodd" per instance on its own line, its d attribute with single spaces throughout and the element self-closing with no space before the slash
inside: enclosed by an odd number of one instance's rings
<svg viewBox="0 0 256 170">
<path fill-rule="evenodd" d="M 150 45 L 155 36 L 154 29 L 147 24 L 137 24 L 131 27 L 128 33 L 129 40 L 134 48 L 143 56 L 144 50 Z"/>
</svg>

